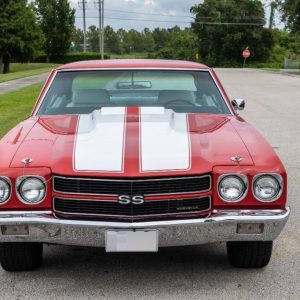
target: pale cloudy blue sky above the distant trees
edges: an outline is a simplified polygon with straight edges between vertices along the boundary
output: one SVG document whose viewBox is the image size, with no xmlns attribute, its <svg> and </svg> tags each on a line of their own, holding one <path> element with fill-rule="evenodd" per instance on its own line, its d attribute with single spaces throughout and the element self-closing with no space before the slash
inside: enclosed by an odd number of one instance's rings
<svg viewBox="0 0 300 300">
<path fill-rule="evenodd" d="M 114 29 L 137 29 L 145 27 L 170 28 L 175 25 L 188 27 L 191 21 L 190 8 L 203 1 L 201 0 L 104 0 L 105 1 L 105 25 Z M 72 7 L 76 8 L 76 26 L 83 27 L 82 9 L 78 2 L 82 0 L 70 0 Z M 98 26 L 98 8 L 95 2 L 98 0 L 86 0 L 86 22 Z M 268 3 L 270 1 L 263 1 Z M 82 7 L 82 6 L 81 6 Z M 269 9 L 266 8 L 266 16 Z M 279 18 L 276 18 L 280 26 Z"/>
</svg>

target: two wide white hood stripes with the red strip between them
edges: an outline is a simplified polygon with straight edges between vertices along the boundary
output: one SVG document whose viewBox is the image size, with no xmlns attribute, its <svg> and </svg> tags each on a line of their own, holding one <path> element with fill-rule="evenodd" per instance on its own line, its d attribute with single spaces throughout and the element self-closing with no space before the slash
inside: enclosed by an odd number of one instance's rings
<svg viewBox="0 0 300 300">
<path fill-rule="evenodd" d="M 186 171 L 191 168 L 188 114 L 161 107 L 102 108 L 78 120 L 74 171 Z"/>
</svg>

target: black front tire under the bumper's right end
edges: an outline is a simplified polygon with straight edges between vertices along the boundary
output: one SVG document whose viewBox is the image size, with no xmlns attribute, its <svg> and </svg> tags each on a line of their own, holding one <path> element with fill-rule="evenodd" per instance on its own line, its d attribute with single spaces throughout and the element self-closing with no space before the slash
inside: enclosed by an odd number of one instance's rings
<svg viewBox="0 0 300 300">
<path fill-rule="evenodd" d="M 272 241 L 227 242 L 227 257 L 237 268 L 263 268 L 272 256 Z"/>
</svg>

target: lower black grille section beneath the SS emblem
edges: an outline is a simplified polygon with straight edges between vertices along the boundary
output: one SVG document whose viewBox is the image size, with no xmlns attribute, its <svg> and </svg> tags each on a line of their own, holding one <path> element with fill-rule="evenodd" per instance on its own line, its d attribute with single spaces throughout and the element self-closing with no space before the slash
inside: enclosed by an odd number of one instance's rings
<svg viewBox="0 0 300 300">
<path fill-rule="evenodd" d="M 143 204 L 120 204 L 116 201 L 54 199 L 54 211 L 62 214 L 107 217 L 150 217 L 199 213 L 210 209 L 210 197 L 146 201 Z"/>
</svg>

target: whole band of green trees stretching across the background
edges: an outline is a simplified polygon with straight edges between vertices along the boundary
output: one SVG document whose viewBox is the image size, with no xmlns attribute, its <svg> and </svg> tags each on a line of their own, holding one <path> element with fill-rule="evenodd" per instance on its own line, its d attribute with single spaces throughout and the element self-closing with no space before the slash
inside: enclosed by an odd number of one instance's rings
<svg viewBox="0 0 300 300">
<path fill-rule="evenodd" d="M 282 55 L 300 55 L 300 0 L 274 0 L 285 30 L 266 27 L 259 0 L 204 0 L 191 7 L 194 20 L 181 29 L 114 30 L 105 27 L 105 51 L 114 54 L 147 53 L 152 58 L 199 60 L 211 66 L 234 66 L 241 51 L 266 62 Z M 272 22 L 271 22 L 272 23 Z M 99 51 L 99 31 L 87 31 L 88 50 Z M 68 52 L 83 50 L 83 32 L 75 27 L 75 9 L 68 0 L 0 1 L 0 73 L 11 60 L 32 61 L 44 55 L 55 62 Z"/>
</svg>

